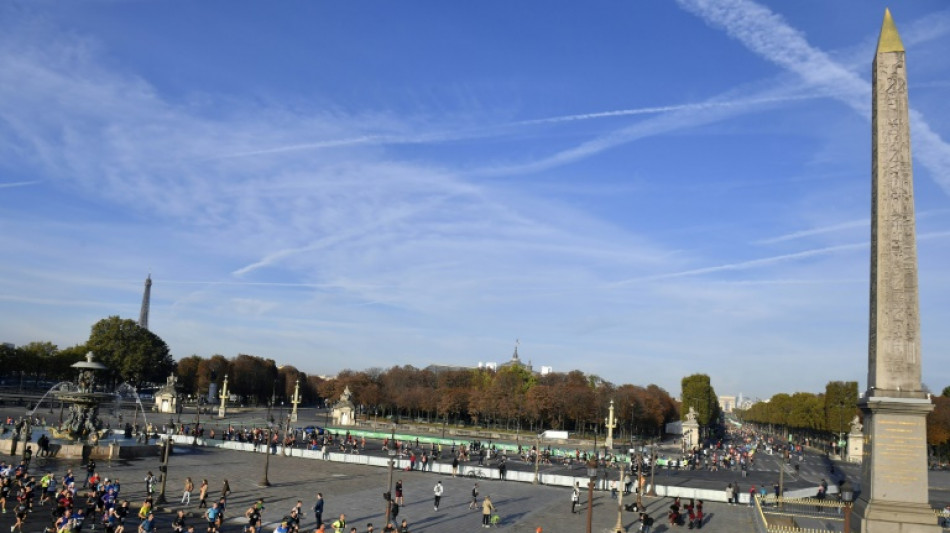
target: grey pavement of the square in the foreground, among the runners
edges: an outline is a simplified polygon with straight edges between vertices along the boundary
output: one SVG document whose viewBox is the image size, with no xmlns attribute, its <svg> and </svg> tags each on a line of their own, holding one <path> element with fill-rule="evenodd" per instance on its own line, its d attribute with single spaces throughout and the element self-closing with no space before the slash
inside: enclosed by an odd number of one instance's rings
<svg viewBox="0 0 950 533">
<path fill-rule="evenodd" d="M 312 459 L 289 458 L 272 455 L 269 460 L 268 479 L 270 487 L 262 488 L 258 482 L 264 475 L 265 456 L 260 453 L 215 450 L 211 448 L 191 448 L 176 446 L 175 454 L 169 462 L 169 479 L 166 496 L 169 504 L 158 513 L 159 531 L 170 531 L 169 524 L 174 511 L 182 508 L 182 484 L 186 476 L 191 476 L 196 487 L 201 479 L 207 479 L 211 490 L 209 501 L 216 499 L 225 479 L 230 483 L 232 494 L 228 498 L 227 520 L 224 533 L 241 532 L 245 523 L 243 514 L 257 498 L 263 497 L 266 504 L 264 513 L 265 531 L 273 531 L 274 526 L 287 513 L 296 501 L 302 500 L 306 515 L 302 521 L 302 531 L 313 531 L 314 517 L 312 507 L 317 492 L 326 499 L 324 521 L 332 521 L 340 513 L 346 514 L 347 531 L 355 526 L 357 531 L 366 530 L 366 524 L 372 522 L 376 531 L 380 531 L 385 513 L 383 493 L 388 489 L 388 470 L 385 468 L 348 465 Z M 50 460 L 43 463 L 37 460 L 33 471 L 42 475 L 42 471 L 51 470 L 63 473 L 67 467 L 82 471 L 78 460 Z M 132 502 L 133 507 L 141 505 L 145 498 L 145 478 L 147 471 L 158 473 L 159 459 L 146 458 L 133 461 L 100 461 L 100 474 L 109 478 L 118 478 L 122 483 L 122 496 Z M 464 532 L 480 527 L 480 511 L 469 510 L 471 479 L 452 478 L 433 473 L 394 472 L 394 479 L 402 479 L 405 486 L 405 505 L 399 512 L 399 520 L 407 519 L 410 530 L 415 532 Z M 445 494 L 438 511 L 433 510 L 432 487 L 441 479 Z M 511 532 L 534 533 L 541 527 L 547 533 L 575 533 L 586 530 L 586 491 L 582 492 L 581 504 L 577 514 L 570 511 L 570 489 L 562 487 L 534 486 L 526 483 L 480 480 L 481 496 L 490 495 L 502 520 L 500 529 Z M 196 513 L 197 491 L 192 496 L 193 504 L 186 510 L 194 513 L 189 524 L 203 526 L 204 520 Z M 629 501 L 629 497 L 627 499 Z M 666 508 L 670 500 L 646 499 L 648 511 L 656 518 L 654 532 L 670 531 L 664 523 Z M 13 524 L 13 505 L 8 505 L 6 514 L 0 515 L 0 528 Z M 710 532 L 753 531 L 752 511 L 749 507 L 729 507 L 726 504 L 709 502 L 705 505 L 708 521 L 703 528 Z M 41 532 L 50 523 L 48 507 L 37 507 L 29 516 L 25 532 Z M 608 492 L 597 492 L 594 497 L 593 531 L 613 531 L 617 521 L 617 504 Z M 136 521 L 129 522 L 135 531 Z M 623 524 L 629 531 L 639 526 L 634 513 L 623 513 Z M 679 528 L 674 528 L 679 529 Z M 684 528 L 685 529 L 685 528 Z M 88 531 L 88 528 L 84 528 Z M 97 528 L 98 531 L 101 529 Z M 204 531 L 204 527 L 197 527 Z M 3 531 L 0 529 L 0 531 Z"/>
</svg>

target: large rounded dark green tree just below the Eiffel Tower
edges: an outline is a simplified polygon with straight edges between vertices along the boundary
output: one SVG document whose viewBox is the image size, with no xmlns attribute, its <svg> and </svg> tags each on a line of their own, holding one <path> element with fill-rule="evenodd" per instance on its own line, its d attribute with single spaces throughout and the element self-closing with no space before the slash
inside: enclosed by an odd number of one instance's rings
<svg viewBox="0 0 950 533">
<path fill-rule="evenodd" d="M 165 341 L 135 321 L 117 316 L 96 322 L 86 347 L 109 368 L 115 383 L 127 381 L 136 387 L 162 383 L 175 368 Z"/>
</svg>

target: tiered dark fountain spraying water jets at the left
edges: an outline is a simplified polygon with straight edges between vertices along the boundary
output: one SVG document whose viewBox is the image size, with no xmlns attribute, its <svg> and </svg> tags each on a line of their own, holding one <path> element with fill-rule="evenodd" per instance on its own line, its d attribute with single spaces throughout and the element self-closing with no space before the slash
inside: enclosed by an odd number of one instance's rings
<svg viewBox="0 0 950 533">
<path fill-rule="evenodd" d="M 45 441 L 38 441 L 41 448 L 46 448 L 47 453 L 53 457 L 82 457 L 83 459 L 89 457 L 129 458 L 154 454 L 156 448 L 149 446 L 147 440 L 143 439 L 144 443 L 139 443 L 134 439 L 110 436 L 110 431 L 105 428 L 105 424 L 99 418 L 99 406 L 117 401 L 121 396 L 117 392 L 105 390 L 103 386 L 96 383 L 97 373 L 107 367 L 94 361 L 92 352 L 86 354 L 85 361 L 79 361 L 72 367 L 79 371 L 76 383 L 57 383 L 43 396 L 43 399 L 51 396 L 54 400 L 58 400 L 61 406 L 68 404 L 69 410 L 63 413 L 61 407 L 59 424 L 51 425 L 41 431 L 40 438 Z M 29 416 L 19 423 L 12 439 L 5 441 L 0 446 L 0 450 L 16 454 L 18 442 L 31 440 L 30 424 L 35 419 L 34 414 L 42 405 L 43 399 L 37 402 Z M 141 402 L 137 403 L 141 408 Z M 52 400 L 50 407 L 52 408 Z M 106 439 L 109 442 L 103 445 Z"/>
</svg>

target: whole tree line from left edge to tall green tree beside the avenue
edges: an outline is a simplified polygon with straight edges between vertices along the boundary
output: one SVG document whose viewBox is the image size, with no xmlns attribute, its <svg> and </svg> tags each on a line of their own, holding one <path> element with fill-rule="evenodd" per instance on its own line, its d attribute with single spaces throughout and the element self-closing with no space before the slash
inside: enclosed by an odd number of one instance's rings
<svg viewBox="0 0 950 533">
<path fill-rule="evenodd" d="M 603 432 L 613 400 L 615 435 L 620 439 L 660 435 L 667 422 L 680 416 L 679 403 L 657 385 L 615 385 L 579 370 L 540 375 L 518 363 L 497 370 L 413 366 L 344 370 L 324 380 L 248 354 L 191 355 L 176 362 L 161 338 L 117 316 L 96 322 L 87 342 L 69 348 L 49 342 L 2 346 L 0 368 L 8 386 L 49 385 L 75 379 L 71 365 L 89 351 L 106 365 L 102 379 L 109 386 L 123 382 L 138 388 L 158 386 L 174 373 L 182 394 L 206 398 L 211 383 L 217 383 L 220 391 L 227 376 L 229 393 L 248 405 L 289 405 L 298 384 L 302 405 L 332 405 L 349 387 L 353 402 L 367 418 L 596 434 Z M 684 391 L 686 387 L 684 380 Z M 706 418 L 718 409 L 715 392 L 708 377 L 697 387 L 690 389 L 690 401 L 698 401 L 695 405 Z"/>
</svg>

